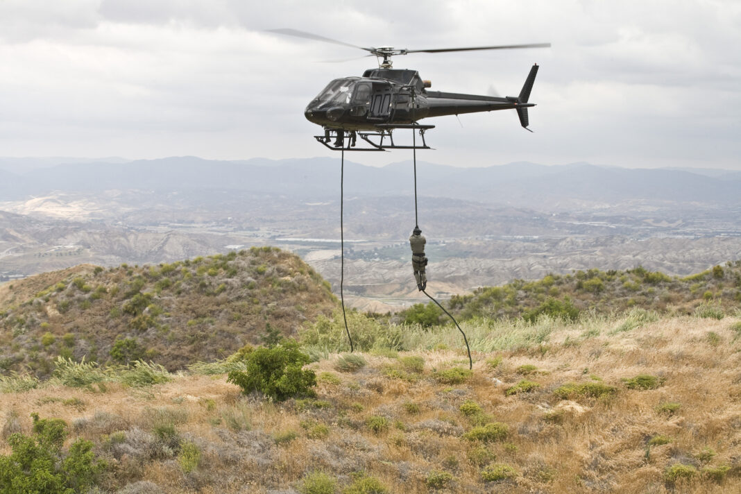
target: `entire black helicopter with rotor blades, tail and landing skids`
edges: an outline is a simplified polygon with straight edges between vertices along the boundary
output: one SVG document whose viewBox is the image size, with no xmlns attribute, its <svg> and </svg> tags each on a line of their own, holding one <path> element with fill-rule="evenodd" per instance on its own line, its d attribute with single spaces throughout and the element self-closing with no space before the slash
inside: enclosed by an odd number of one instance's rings
<svg viewBox="0 0 741 494">
<path fill-rule="evenodd" d="M 379 68 L 368 69 L 362 77 L 344 77 L 331 81 L 306 107 L 304 115 L 314 124 L 324 127 L 324 136 L 314 136 L 331 150 L 385 151 L 388 149 L 430 149 L 425 143 L 425 130 L 434 125 L 417 121 L 433 116 L 459 115 L 460 113 L 516 110 L 519 122 L 528 129 L 528 102 L 538 65 L 534 64 L 525 79 L 519 96 L 479 96 L 460 93 L 428 91 L 430 81 L 419 77 L 416 70 L 393 69 L 391 56 L 408 53 L 442 53 L 471 50 L 509 50 L 514 48 L 544 48 L 550 43 L 511 44 L 506 46 L 438 48 L 433 50 L 407 50 L 394 47 L 359 47 L 312 33 L 294 29 L 269 30 L 270 33 L 298 36 L 300 38 L 342 44 L 359 48 L 376 56 Z M 402 146 L 393 143 L 394 129 L 416 129 L 422 136 L 422 145 Z M 531 130 L 530 130 L 531 131 Z M 532 132 L 532 131 L 531 131 Z M 357 136 L 370 147 L 356 147 Z M 330 145 L 330 141 L 334 142 Z M 384 139 L 388 142 L 384 143 Z"/>
</svg>

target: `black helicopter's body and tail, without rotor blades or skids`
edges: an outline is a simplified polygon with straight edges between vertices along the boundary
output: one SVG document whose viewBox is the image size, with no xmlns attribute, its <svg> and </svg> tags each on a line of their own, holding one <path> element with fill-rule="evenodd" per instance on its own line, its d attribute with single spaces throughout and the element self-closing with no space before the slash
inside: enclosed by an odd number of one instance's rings
<svg viewBox="0 0 741 494">
<path fill-rule="evenodd" d="M 535 65 L 525 85 L 532 86 Z M 520 97 L 428 91 L 416 70 L 370 69 L 362 77 L 335 79 L 305 109 L 308 121 L 325 129 L 377 130 L 421 119 L 535 106 Z M 524 88 L 523 88 L 524 90 Z M 529 96 L 529 89 L 527 91 Z M 518 112 L 519 113 L 519 112 Z M 526 127 L 526 124 L 523 125 Z"/>
</svg>

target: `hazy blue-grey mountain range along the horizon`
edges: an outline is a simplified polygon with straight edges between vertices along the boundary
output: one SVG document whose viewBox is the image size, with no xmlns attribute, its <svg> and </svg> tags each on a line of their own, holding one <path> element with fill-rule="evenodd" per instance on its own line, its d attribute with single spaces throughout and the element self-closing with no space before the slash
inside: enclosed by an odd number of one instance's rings
<svg viewBox="0 0 741 494">
<path fill-rule="evenodd" d="M 697 172 L 697 173 L 696 173 Z M 559 201 L 599 204 L 620 201 L 675 201 L 740 204 L 741 175 L 732 170 L 626 169 L 588 163 L 544 166 L 517 162 L 481 168 L 459 168 L 418 162 L 422 196 L 553 206 Z M 183 156 L 127 163 L 99 161 L 34 167 L 6 175 L 7 198 L 51 190 L 242 190 L 299 198 L 334 197 L 339 187 L 338 158 L 215 161 Z M 386 167 L 345 162 L 348 195 L 388 196 L 412 193 L 410 161 Z"/>
</svg>

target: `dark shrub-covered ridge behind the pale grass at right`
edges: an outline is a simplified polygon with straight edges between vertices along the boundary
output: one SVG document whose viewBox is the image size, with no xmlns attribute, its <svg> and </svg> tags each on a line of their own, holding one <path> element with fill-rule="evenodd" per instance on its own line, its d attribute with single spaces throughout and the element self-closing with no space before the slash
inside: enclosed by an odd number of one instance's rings
<svg viewBox="0 0 741 494">
<path fill-rule="evenodd" d="M 721 317 L 741 307 L 741 261 L 728 261 L 691 276 L 668 276 L 636 267 L 629 270 L 576 271 L 551 274 L 536 281 L 515 280 L 453 296 L 445 304 L 454 316 L 536 318 L 539 314 L 576 318 L 579 313 L 622 313 L 633 308 L 668 315 Z M 424 321 L 422 321 L 424 319 Z M 395 321 L 447 324 L 442 312 L 419 304 L 397 314 Z"/>
</svg>

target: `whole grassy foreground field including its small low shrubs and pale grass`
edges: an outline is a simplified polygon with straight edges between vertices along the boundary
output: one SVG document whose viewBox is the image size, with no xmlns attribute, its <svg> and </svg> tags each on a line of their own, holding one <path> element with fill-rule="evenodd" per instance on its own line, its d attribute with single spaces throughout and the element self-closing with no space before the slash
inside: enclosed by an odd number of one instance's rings
<svg viewBox="0 0 741 494">
<path fill-rule="evenodd" d="M 738 314 L 467 321 L 471 373 L 454 327 L 355 314 L 353 356 L 337 327 L 301 335 L 316 398 L 242 395 L 224 362 L 62 362 L 1 378 L 2 438 L 62 418 L 106 461 L 93 493 L 741 493 Z"/>
</svg>

